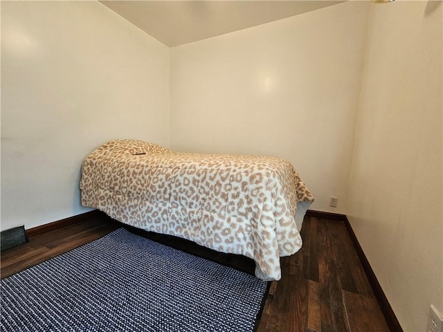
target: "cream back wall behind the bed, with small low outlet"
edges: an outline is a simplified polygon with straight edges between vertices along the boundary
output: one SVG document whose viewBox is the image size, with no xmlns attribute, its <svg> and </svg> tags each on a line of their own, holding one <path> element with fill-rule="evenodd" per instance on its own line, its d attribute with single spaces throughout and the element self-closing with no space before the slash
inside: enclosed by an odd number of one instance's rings
<svg viewBox="0 0 443 332">
<path fill-rule="evenodd" d="M 282 156 L 344 213 L 367 24 L 358 1 L 171 48 L 172 147 Z"/>
</svg>

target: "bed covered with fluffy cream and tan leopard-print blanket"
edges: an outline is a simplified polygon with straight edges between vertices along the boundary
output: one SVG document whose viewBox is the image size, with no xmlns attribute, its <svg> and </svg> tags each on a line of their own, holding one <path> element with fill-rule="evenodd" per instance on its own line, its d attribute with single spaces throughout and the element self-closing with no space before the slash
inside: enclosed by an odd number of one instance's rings
<svg viewBox="0 0 443 332">
<path fill-rule="evenodd" d="M 112 140 L 82 163 L 82 205 L 143 230 L 170 234 L 255 261 L 281 277 L 280 257 L 302 246 L 314 201 L 282 158 L 189 154 L 141 140 Z"/>
</svg>

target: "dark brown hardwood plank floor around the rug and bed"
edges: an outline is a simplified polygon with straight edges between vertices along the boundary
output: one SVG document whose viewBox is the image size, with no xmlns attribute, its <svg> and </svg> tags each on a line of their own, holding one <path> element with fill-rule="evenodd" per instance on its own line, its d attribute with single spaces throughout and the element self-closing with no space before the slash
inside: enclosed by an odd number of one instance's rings
<svg viewBox="0 0 443 332">
<path fill-rule="evenodd" d="M 48 232 L 1 252 L 1 278 L 98 239 L 122 224 L 104 214 Z M 251 259 L 208 250 L 176 237 L 133 232 L 221 264 L 253 273 Z M 272 282 L 258 332 L 390 331 L 343 221 L 305 216 L 302 249 L 282 257 L 282 279 Z"/>
</svg>

